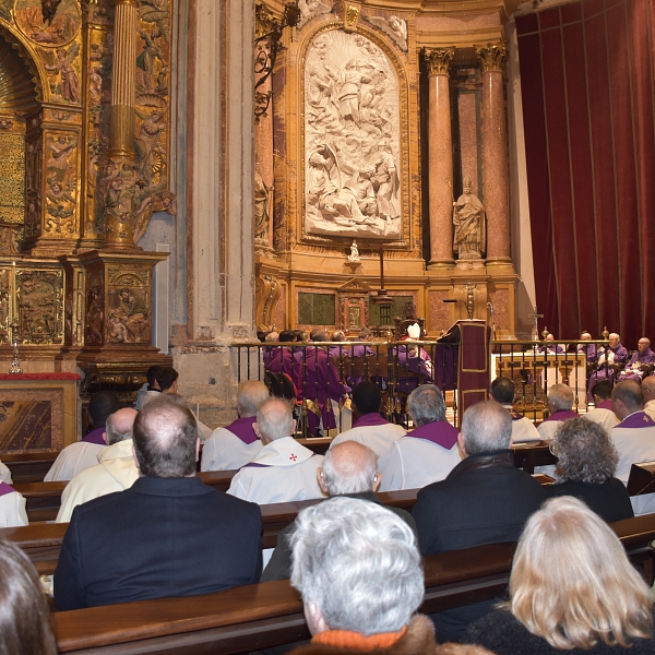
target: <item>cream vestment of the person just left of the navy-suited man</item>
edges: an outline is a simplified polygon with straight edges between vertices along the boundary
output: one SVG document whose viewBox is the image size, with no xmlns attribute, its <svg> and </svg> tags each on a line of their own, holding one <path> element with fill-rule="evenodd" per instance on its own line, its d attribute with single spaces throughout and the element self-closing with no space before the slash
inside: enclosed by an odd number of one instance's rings
<svg viewBox="0 0 655 655">
<path fill-rule="evenodd" d="M 68 523 L 79 504 L 107 493 L 124 491 L 139 478 L 131 439 L 108 445 L 99 454 L 98 462 L 99 464 L 81 471 L 67 485 L 61 495 L 57 523 Z"/>
</svg>

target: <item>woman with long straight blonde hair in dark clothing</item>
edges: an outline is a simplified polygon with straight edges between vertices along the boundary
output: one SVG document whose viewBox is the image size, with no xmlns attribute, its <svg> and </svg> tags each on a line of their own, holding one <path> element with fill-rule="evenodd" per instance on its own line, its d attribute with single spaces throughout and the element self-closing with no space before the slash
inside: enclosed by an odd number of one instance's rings
<svg viewBox="0 0 655 655">
<path fill-rule="evenodd" d="M 653 599 L 598 514 L 571 498 L 547 500 L 525 525 L 510 599 L 465 641 L 497 655 L 654 653 Z"/>
</svg>

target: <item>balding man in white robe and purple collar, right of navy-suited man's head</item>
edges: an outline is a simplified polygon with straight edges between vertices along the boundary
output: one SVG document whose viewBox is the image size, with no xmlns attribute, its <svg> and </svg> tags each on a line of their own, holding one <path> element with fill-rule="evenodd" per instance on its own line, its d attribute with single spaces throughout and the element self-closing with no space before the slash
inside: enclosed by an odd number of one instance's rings
<svg viewBox="0 0 655 655">
<path fill-rule="evenodd" d="M 239 418 L 214 430 L 202 449 L 201 471 L 241 468 L 262 448 L 254 432 L 257 410 L 269 400 L 269 390 L 259 380 L 245 380 L 237 390 Z"/>
</svg>

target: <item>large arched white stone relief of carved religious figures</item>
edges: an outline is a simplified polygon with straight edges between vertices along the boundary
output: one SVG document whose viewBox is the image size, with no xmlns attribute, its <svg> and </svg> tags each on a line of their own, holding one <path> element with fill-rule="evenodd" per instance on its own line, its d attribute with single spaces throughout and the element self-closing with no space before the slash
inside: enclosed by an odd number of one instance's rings
<svg viewBox="0 0 655 655">
<path fill-rule="evenodd" d="M 386 55 L 359 34 L 330 31 L 305 69 L 305 229 L 401 236 L 400 96 Z"/>
</svg>

